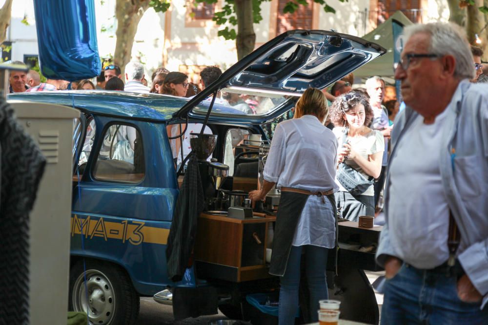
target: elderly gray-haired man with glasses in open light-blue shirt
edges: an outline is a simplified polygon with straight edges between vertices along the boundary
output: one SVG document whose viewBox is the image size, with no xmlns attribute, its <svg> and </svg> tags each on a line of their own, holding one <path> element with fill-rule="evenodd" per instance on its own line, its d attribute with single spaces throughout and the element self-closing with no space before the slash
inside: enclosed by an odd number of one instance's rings
<svg viewBox="0 0 488 325">
<path fill-rule="evenodd" d="M 488 324 L 488 87 L 462 29 L 404 30 L 391 134 L 382 324 Z"/>
</svg>

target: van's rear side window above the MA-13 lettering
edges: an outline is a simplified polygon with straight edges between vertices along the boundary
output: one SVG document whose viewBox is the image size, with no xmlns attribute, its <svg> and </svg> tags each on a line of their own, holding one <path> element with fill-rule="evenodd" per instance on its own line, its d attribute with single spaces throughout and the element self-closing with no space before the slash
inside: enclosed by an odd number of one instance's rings
<svg viewBox="0 0 488 325">
<path fill-rule="evenodd" d="M 144 161 L 139 131 L 133 126 L 113 124 L 103 134 L 94 177 L 98 180 L 139 183 L 144 178 Z"/>
</svg>

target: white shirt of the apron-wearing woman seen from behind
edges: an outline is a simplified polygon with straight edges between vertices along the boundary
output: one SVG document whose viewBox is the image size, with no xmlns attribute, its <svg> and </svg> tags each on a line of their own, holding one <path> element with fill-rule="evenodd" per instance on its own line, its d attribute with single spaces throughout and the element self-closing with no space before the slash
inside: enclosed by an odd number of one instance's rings
<svg viewBox="0 0 488 325">
<path fill-rule="evenodd" d="M 263 176 L 276 187 L 337 191 L 334 182 L 337 140 L 317 117 L 305 115 L 276 126 Z M 335 216 L 330 201 L 310 195 L 293 236 L 293 246 L 335 245 Z"/>
</svg>

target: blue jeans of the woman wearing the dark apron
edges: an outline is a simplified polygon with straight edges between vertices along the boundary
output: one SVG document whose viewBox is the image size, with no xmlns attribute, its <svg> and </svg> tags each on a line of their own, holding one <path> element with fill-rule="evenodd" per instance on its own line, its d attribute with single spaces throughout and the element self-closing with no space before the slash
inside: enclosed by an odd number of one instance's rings
<svg viewBox="0 0 488 325">
<path fill-rule="evenodd" d="M 300 259 L 302 248 L 305 249 L 305 268 L 310 291 L 310 319 L 318 321 L 317 310 L 319 300 L 327 299 L 327 284 L 325 281 L 325 268 L 327 266 L 328 249 L 318 246 L 292 246 L 285 275 L 280 277 L 280 304 L 278 308 L 279 324 L 295 324 L 295 315 L 298 308 L 298 290 L 300 287 Z"/>
</svg>

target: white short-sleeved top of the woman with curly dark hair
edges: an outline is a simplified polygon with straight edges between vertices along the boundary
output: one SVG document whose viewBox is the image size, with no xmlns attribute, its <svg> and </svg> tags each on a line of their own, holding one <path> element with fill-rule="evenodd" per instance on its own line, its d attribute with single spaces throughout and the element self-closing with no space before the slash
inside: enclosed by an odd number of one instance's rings
<svg viewBox="0 0 488 325">
<path fill-rule="evenodd" d="M 339 142 L 339 148 L 342 148 L 342 136 L 344 128 L 336 127 L 332 130 L 335 134 L 337 141 Z M 369 155 L 373 153 L 383 152 L 385 150 L 385 140 L 381 132 L 373 130 L 365 136 L 349 137 L 349 144 L 351 147 L 366 160 L 369 159 Z M 366 174 L 363 169 L 354 161 L 354 159 L 346 159 L 346 164 L 360 172 L 366 179 L 371 176 Z M 342 185 L 336 180 L 339 186 L 339 191 L 347 191 Z M 371 185 L 366 191 L 361 195 L 374 196 L 374 187 Z"/>
</svg>

